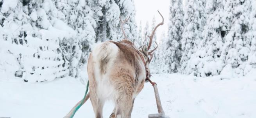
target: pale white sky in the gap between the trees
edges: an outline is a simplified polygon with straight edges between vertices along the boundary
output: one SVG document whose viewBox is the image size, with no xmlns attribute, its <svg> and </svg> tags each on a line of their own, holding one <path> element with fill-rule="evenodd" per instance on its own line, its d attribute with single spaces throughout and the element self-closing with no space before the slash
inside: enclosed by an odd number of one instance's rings
<svg viewBox="0 0 256 118">
<path fill-rule="evenodd" d="M 142 29 L 144 28 L 147 21 L 149 21 L 149 26 L 152 24 L 152 19 L 155 16 L 156 25 L 162 21 L 159 12 L 164 17 L 164 25 L 161 25 L 156 30 L 157 39 L 160 39 L 162 32 L 168 32 L 168 17 L 169 17 L 169 5 L 170 0 L 134 0 L 136 9 L 136 22 L 138 27 L 140 21 L 142 23 Z"/>
</svg>

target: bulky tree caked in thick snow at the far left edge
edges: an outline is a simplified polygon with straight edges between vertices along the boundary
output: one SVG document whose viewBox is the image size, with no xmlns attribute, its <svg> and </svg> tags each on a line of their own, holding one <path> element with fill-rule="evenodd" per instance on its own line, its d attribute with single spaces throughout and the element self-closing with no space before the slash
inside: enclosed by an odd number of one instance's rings
<svg viewBox="0 0 256 118">
<path fill-rule="evenodd" d="M 59 40 L 75 32 L 58 20 L 58 11 L 50 0 L 1 1 L 1 53 L 8 55 L 0 63 L 11 78 L 25 82 L 43 82 L 68 74 Z M 66 28 L 66 30 L 63 30 Z M 2 54 L 1 54 L 2 55 Z M 8 77 L 7 77 L 8 78 Z"/>
</svg>

